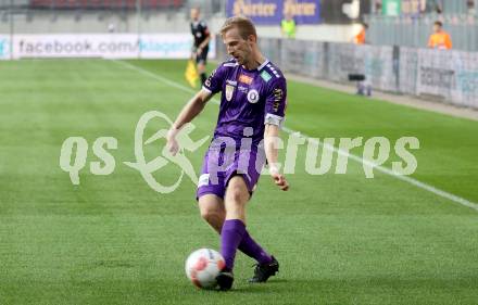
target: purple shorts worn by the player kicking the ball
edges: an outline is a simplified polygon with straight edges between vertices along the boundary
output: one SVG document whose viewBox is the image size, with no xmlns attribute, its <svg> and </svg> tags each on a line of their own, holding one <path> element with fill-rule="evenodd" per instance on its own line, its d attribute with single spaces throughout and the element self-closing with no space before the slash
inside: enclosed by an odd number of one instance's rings
<svg viewBox="0 0 478 305">
<path fill-rule="evenodd" d="M 230 178 L 237 175 L 243 177 L 252 194 L 264 164 L 264 153 L 256 150 L 227 152 L 224 148 L 210 147 L 204 156 L 196 199 L 204 194 L 215 194 L 224 199 Z"/>
</svg>

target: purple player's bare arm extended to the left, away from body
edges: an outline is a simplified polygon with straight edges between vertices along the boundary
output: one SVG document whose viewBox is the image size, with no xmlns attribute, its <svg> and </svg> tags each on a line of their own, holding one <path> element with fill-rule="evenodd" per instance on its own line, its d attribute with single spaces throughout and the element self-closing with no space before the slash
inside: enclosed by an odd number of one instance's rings
<svg viewBox="0 0 478 305">
<path fill-rule="evenodd" d="M 180 111 L 176 120 L 173 123 L 173 126 L 171 126 L 169 130 L 167 131 L 167 149 L 173 155 L 175 155 L 179 150 L 179 145 L 176 140 L 177 134 L 181 127 L 185 126 L 185 124 L 191 122 L 202 112 L 207 101 L 211 100 L 212 96 L 213 94 L 211 91 L 201 89 Z"/>
</svg>

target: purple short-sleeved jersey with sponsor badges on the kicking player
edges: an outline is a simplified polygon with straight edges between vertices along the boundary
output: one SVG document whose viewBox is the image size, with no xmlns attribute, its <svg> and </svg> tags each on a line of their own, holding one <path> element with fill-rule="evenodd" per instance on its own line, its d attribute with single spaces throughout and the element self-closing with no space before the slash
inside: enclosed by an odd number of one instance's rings
<svg viewBox="0 0 478 305">
<path fill-rule="evenodd" d="M 244 136 L 252 136 L 256 147 L 264 138 L 265 123 L 280 126 L 284 120 L 286 78 L 268 60 L 255 69 L 247 69 L 234 59 L 224 62 L 211 74 L 203 89 L 213 94 L 222 91 L 214 138 L 230 137 L 240 144 Z"/>
</svg>

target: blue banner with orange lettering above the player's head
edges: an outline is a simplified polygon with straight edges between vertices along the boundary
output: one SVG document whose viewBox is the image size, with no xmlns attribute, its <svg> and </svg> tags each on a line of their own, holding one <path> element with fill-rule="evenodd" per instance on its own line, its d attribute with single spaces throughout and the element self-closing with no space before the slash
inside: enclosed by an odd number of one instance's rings
<svg viewBox="0 0 478 305">
<path fill-rule="evenodd" d="M 228 17 L 243 15 L 255 24 L 280 24 L 287 13 L 291 13 L 295 24 L 317 24 L 320 22 L 319 0 L 227 0 Z"/>
</svg>

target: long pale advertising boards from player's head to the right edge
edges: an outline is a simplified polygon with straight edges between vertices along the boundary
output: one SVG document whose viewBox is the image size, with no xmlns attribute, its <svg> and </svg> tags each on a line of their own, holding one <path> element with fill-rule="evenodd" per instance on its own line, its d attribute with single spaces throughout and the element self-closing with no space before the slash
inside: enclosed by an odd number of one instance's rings
<svg viewBox="0 0 478 305">
<path fill-rule="evenodd" d="M 217 59 L 227 59 L 222 39 L 216 43 Z M 364 74 L 380 91 L 478 109 L 478 52 L 277 38 L 260 46 L 287 73 L 342 84 Z"/>
</svg>

